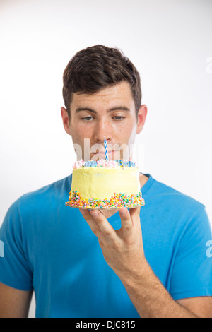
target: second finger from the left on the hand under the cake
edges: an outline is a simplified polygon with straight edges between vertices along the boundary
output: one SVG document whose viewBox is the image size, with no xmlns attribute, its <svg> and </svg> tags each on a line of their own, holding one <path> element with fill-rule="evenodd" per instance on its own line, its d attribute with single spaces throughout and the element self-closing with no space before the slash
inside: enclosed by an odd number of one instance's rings
<svg viewBox="0 0 212 332">
<path fill-rule="evenodd" d="M 100 227 L 100 230 L 102 231 L 102 234 L 105 235 L 105 237 L 111 239 L 112 241 L 117 239 L 117 234 L 108 222 L 107 218 L 105 218 L 105 215 L 103 215 L 98 210 L 90 211 L 90 215 L 92 215 L 95 222 L 98 223 L 98 226 Z"/>
</svg>

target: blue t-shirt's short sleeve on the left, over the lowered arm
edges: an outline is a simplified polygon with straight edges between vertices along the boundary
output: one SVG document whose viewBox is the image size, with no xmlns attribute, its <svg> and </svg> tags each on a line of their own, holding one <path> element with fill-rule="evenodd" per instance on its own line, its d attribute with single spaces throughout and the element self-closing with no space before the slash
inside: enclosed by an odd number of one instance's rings
<svg viewBox="0 0 212 332">
<path fill-rule="evenodd" d="M 18 290 L 33 289 L 33 273 L 23 249 L 18 201 L 8 209 L 0 228 L 4 256 L 0 257 L 0 282 Z"/>
</svg>

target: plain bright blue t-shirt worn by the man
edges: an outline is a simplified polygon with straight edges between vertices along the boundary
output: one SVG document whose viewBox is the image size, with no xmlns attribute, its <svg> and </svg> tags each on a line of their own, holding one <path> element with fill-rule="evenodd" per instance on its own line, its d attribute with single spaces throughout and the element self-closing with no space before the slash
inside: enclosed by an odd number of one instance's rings
<svg viewBox="0 0 212 332">
<path fill-rule="evenodd" d="M 212 239 L 204 206 L 146 174 L 141 228 L 146 259 L 174 300 L 212 295 Z M 34 290 L 36 317 L 138 317 L 98 238 L 65 206 L 71 176 L 21 196 L 0 230 L 0 281 Z M 119 213 L 108 218 L 121 227 Z"/>
</svg>

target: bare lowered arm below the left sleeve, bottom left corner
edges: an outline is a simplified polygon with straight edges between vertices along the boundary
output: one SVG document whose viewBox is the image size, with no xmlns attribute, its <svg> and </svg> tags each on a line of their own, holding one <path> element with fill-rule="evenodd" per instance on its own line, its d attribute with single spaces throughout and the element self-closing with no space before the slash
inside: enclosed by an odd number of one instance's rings
<svg viewBox="0 0 212 332">
<path fill-rule="evenodd" d="M 0 318 L 27 318 L 32 295 L 0 283 Z"/>
</svg>

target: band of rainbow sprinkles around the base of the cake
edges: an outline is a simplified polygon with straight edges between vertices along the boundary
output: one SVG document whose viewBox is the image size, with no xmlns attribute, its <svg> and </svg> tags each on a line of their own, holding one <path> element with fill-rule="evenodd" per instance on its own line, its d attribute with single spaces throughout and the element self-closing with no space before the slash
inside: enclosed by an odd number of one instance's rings
<svg viewBox="0 0 212 332">
<path fill-rule="evenodd" d="M 110 199 L 83 199 L 77 191 L 70 191 L 69 194 L 69 202 L 66 202 L 66 205 L 71 206 L 71 208 L 135 208 L 145 205 L 141 191 L 139 194 L 131 194 L 130 196 L 114 193 Z"/>
</svg>

